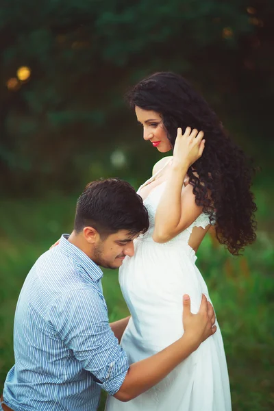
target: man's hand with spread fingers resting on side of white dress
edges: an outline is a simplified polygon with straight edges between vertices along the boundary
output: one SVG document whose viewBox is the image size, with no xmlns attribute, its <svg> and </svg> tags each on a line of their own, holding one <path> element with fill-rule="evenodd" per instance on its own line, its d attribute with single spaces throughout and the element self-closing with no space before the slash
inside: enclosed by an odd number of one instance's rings
<svg viewBox="0 0 274 411">
<path fill-rule="evenodd" d="M 210 302 L 203 294 L 201 297 L 201 306 L 197 314 L 190 312 L 190 297 L 184 295 L 184 335 L 192 341 L 193 347 L 197 349 L 206 338 L 212 336 L 216 332 L 216 316 Z"/>
</svg>

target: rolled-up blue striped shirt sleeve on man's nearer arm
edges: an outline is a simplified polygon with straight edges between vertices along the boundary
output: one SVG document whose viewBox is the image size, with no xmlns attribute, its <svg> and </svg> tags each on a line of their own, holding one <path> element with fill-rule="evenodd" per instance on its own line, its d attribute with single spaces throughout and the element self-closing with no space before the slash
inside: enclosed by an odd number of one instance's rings
<svg viewBox="0 0 274 411">
<path fill-rule="evenodd" d="M 51 306 L 49 321 L 95 382 L 110 395 L 116 394 L 129 363 L 110 328 L 101 292 L 92 288 L 66 292 Z"/>
</svg>

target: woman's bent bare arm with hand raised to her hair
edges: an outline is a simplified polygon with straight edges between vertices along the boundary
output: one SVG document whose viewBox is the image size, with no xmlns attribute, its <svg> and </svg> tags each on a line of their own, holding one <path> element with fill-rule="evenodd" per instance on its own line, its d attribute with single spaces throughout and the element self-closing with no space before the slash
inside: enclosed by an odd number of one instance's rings
<svg viewBox="0 0 274 411">
<path fill-rule="evenodd" d="M 203 132 L 187 127 L 182 135 L 182 129 L 178 129 L 171 171 L 155 215 L 155 242 L 171 240 L 201 214 L 202 207 L 195 203 L 192 186 L 182 188 L 188 168 L 201 157 L 204 147 Z"/>
</svg>

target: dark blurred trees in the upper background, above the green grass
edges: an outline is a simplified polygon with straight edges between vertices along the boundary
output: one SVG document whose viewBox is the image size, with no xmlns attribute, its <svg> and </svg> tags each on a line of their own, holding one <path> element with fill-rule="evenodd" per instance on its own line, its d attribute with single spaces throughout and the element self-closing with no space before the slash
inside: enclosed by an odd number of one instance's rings
<svg viewBox="0 0 274 411">
<path fill-rule="evenodd" d="M 153 71 L 190 79 L 236 140 L 267 157 L 273 16 L 271 0 L 1 1 L 1 190 L 70 191 L 100 175 L 95 160 L 109 175 L 136 175 L 141 139 L 123 93 Z M 31 70 L 25 81 L 21 66 Z M 117 147 L 125 171 L 110 161 Z"/>
</svg>

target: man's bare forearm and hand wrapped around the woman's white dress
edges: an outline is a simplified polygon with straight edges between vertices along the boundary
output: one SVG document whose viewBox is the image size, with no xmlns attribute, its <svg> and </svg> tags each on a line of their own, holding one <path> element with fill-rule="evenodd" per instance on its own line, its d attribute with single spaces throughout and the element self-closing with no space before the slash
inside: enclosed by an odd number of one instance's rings
<svg viewBox="0 0 274 411">
<path fill-rule="evenodd" d="M 154 356 L 132 364 L 120 390 L 114 395 L 116 399 L 129 401 L 158 384 L 216 332 L 214 310 L 204 295 L 198 314 L 191 314 L 190 299 L 184 299 L 183 316 L 184 335 Z"/>
</svg>

